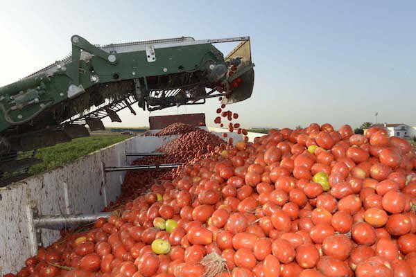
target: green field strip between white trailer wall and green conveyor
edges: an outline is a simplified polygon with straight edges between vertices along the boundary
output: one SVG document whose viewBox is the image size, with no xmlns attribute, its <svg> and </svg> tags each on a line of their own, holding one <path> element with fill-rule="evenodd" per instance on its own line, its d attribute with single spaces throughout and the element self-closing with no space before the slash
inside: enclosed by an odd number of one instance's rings
<svg viewBox="0 0 416 277">
<path fill-rule="evenodd" d="M 42 159 L 42 163 L 37 163 L 32 166 L 29 172 L 31 174 L 39 174 L 58 166 L 64 166 L 64 164 L 74 161 L 79 157 L 84 157 L 89 153 L 128 138 L 131 138 L 131 136 L 94 135 L 73 139 L 67 143 L 60 143 L 47 148 L 41 148 L 37 150 L 35 157 Z"/>
</svg>

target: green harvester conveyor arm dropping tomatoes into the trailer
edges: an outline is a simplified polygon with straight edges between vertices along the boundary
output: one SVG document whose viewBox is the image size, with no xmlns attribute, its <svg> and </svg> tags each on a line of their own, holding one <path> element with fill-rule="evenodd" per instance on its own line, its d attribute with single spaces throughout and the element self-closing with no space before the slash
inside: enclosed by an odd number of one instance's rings
<svg viewBox="0 0 416 277">
<path fill-rule="evenodd" d="M 239 42 L 224 57 L 213 44 Z M 192 37 L 93 45 L 71 37 L 72 53 L 0 87 L 0 172 L 28 166 L 19 153 L 88 136 L 102 119 L 121 122 L 128 108 L 154 111 L 250 98 L 254 84 L 250 37 Z"/>
</svg>

